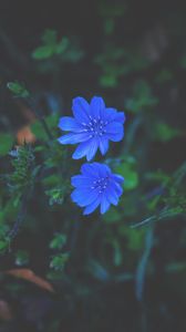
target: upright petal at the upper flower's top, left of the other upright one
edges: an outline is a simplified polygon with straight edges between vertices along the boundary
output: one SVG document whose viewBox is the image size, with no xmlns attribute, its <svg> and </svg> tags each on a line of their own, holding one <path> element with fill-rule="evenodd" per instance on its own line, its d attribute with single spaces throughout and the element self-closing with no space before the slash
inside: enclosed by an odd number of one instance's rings
<svg viewBox="0 0 186 332">
<path fill-rule="evenodd" d="M 83 97 L 76 97 L 72 101 L 72 111 L 79 123 L 89 122 L 90 105 Z"/>
</svg>

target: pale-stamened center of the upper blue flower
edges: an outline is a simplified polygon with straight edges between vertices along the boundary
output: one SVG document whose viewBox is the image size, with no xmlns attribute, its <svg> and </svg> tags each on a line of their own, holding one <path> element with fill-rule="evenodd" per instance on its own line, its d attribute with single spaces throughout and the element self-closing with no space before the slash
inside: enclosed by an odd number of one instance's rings
<svg viewBox="0 0 186 332">
<path fill-rule="evenodd" d="M 82 125 L 84 126 L 84 132 L 90 133 L 90 137 L 103 136 L 106 133 L 106 124 L 107 122 L 104 122 L 100 117 L 92 118 L 92 116 L 90 116 L 89 123 L 82 123 Z"/>
</svg>

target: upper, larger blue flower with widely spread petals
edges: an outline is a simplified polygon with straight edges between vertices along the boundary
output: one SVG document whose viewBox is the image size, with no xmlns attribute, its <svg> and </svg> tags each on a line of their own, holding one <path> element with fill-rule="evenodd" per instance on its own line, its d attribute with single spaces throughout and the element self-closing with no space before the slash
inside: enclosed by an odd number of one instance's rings
<svg viewBox="0 0 186 332">
<path fill-rule="evenodd" d="M 58 141 L 61 144 L 80 143 L 72 156 L 73 159 L 86 156 L 90 162 L 97 148 L 105 155 L 108 141 L 120 142 L 123 138 L 124 113 L 105 107 L 102 97 L 94 96 L 90 104 L 83 97 L 76 97 L 73 100 L 72 111 L 74 117 L 60 118 L 59 127 L 70 133 Z"/>
</svg>

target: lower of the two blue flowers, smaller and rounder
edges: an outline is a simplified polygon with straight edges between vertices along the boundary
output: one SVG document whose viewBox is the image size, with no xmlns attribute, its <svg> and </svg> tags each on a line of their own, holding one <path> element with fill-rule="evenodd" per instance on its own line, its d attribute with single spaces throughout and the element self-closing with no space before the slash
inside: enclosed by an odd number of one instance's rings
<svg viewBox="0 0 186 332">
<path fill-rule="evenodd" d="M 81 173 L 71 178 L 72 186 L 75 187 L 71 198 L 80 207 L 85 208 L 83 215 L 90 215 L 99 205 L 101 214 L 104 214 L 111 204 L 118 204 L 123 193 L 122 176 L 113 174 L 110 167 L 100 163 L 84 164 Z"/>
</svg>

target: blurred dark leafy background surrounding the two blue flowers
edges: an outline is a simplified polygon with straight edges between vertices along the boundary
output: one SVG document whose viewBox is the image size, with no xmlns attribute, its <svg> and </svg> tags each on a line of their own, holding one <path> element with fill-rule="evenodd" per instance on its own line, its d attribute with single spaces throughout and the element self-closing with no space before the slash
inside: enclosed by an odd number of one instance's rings
<svg viewBox="0 0 186 332">
<path fill-rule="evenodd" d="M 183 1 L 0 0 L 0 331 L 186 331 L 185 90 Z M 125 112 L 125 185 L 87 219 L 49 141 L 93 95 Z"/>
</svg>

